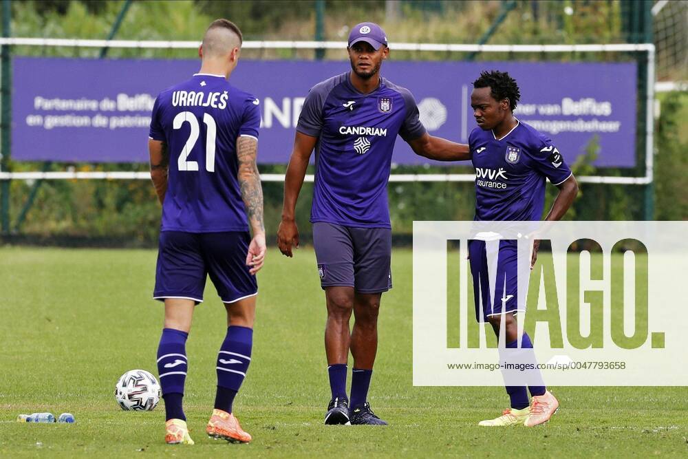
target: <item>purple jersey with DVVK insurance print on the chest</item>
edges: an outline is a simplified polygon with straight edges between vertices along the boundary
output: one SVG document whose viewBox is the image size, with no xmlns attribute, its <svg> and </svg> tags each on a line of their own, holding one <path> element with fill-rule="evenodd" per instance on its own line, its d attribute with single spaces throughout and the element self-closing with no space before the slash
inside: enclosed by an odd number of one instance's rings
<svg viewBox="0 0 688 459">
<path fill-rule="evenodd" d="M 541 220 L 545 178 L 558 185 L 571 176 L 552 140 L 518 121 L 501 139 L 473 129 L 469 148 L 475 167 L 475 220 Z"/>
</svg>

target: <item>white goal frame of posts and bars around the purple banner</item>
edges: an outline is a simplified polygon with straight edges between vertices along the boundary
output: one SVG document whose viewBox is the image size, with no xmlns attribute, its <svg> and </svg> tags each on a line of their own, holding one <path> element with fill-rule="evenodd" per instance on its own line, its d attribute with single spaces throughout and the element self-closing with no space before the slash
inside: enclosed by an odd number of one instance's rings
<svg viewBox="0 0 688 459">
<path fill-rule="evenodd" d="M 198 41 L 138 41 L 138 40 L 82 40 L 82 39 L 43 39 L 43 38 L 0 38 L 0 46 L 59 46 L 59 47 L 116 47 L 139 49 L 196 49 Z M 292 50 L 343 50 L 343 41 L 244 41 L 244 49 L 292 49 Z M 390 43 L 389 47 L 401 51 L 434 52 L 645 52 L 647 53 L 647 88 L 645 100 L 645 175 L 641 177 L 610 177 L 590 175 L 578 177 L 583 183 L 634 184 L 652 183 L 654 173 L 654 92 L 655 92 L 655 47 L 652 43 L 612 43 L 586 45 L 469 45 L 449 43 Z M 148 172 L 5 172 L 0 171 L 0 180 L 65 180 L 65 179 L 108 179 L 108 180 L 149 180 Z M 262 174 L 264 182 L 282 182 L 283 174 Z M 306 175 L 305 181 L 312 182 L 313 175 Z M 458 173 L 432 174 L 394 174 L 390 182 L 473 182 L 475 175 Z"/>
</svg>

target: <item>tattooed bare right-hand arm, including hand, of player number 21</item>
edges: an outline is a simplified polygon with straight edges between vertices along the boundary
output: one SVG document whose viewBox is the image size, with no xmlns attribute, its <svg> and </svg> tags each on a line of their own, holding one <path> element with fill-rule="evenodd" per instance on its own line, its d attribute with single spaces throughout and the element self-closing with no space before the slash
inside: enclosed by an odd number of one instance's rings
<svg viewBox="0 0 688 459">
<path fill-rule="evenodd" d="M 253 239 L 246 254 L 246 265 L 250 266 L 249 272 L 252 275 L 263 267 L 266 253 L 263 189 L 256 164 L 257 155 L 258 140 L 250 136 L 239 136 L 237 139 L 237 160 L 239 160 L 237 178 L 241 187 L 241 198 L 244 199 L 246 205 L 248 224 L 253 233 Z"/>
</svg>

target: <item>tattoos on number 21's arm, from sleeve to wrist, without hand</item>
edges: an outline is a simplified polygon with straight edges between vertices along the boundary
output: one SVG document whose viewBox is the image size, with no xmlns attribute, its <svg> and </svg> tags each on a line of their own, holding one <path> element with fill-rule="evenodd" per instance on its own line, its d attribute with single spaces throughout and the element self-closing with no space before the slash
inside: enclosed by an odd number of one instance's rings
<svg viewBox="0 0 688 459">
<path fill-rule="evenodd" d="M 244 198 L 248 222 L 255 231 L 265 231 L 263 223 L 263 189 L 256 164 L 258 141 L 252 137 L 237 139 L 237 160 L 239 160 L 239 185 Z"/>
</svg>

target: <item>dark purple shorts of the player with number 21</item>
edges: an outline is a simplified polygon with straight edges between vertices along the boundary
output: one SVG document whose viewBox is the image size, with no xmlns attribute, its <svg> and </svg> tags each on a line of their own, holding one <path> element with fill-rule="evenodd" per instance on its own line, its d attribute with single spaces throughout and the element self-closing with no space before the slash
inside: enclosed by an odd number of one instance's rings
<svg viewBox="0 0 688 459">
<path fill-rule="evenodd" d="M 223 303 L 257 295 L 256 278 L 246 266 L 250 240 L 249 233 L 244 231 L 161 231 L 153 298 L 183 298 L 200 303 L 208 275 Z"/>
</svg>

